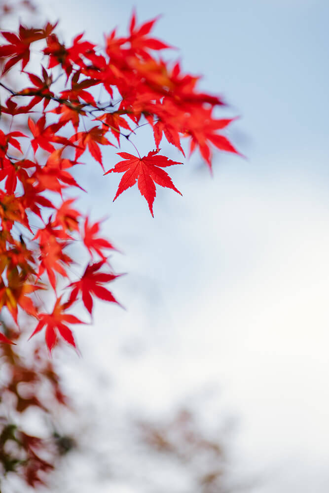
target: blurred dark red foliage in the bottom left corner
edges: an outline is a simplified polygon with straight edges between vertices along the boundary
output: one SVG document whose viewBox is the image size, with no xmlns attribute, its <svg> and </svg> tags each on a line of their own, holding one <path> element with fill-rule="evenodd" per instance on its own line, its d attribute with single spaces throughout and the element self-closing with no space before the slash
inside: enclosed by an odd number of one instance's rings
<svg viewBox="0 0 329 493">
<path fill-rule="evenodd" d="M 23 335 L 2 325 L 16 345 L 0 344 L 0 474 L 36 487 L 45 482 L 57 458 L 74 447 L 70 437 L 56 431 L 67 398 L 43 345 L 24 355 Z"/>
</svg>

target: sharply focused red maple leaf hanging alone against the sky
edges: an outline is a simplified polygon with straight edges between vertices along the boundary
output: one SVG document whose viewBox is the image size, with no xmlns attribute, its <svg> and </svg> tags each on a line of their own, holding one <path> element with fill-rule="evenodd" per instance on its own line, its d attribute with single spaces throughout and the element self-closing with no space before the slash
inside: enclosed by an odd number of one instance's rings
<svg viewBox="0 0 329 493">
<path fill-rule="evenodd" d="M 145 197 L 153 217 L 153 202 L 156 196 L 155 183 L 166 188 L 171 188 L 182 195 L 171 181 L 170 176 L 161 168 L 183 163 L 171 161 L 166 156 L 161 156 L 158 154 L 159 150 L 160 149 L 150 151 L 147 156 L 142 158 L 141 156 L 137 157 L 133 154 L 128 154 L 127 152 L 117 152 L 120 157 L 124 158 L 124 161 L 116 163 L 114 168 L 105 173 L 105 175 L 108 175 L 109 173 L 124 173 L 113 202 L 122 192 L 124 192 L 124 190 L 135 185 L 137 181 L 138 189 L 141 192 L 141 195 Z"/>
</svg>

